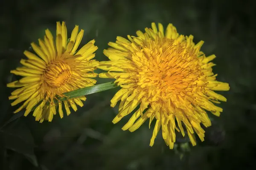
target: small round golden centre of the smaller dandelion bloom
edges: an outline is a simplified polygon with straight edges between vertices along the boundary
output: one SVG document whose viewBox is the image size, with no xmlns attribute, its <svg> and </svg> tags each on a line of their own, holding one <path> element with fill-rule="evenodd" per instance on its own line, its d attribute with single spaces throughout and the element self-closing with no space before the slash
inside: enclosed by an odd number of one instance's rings
<svg viewBox="0 0 256 170">
<path fill-rule="evenodd" d="M 58 88 L 65 85 L 70 79 L 71 75 L 71 69 L 67 63 L 53 61 L 46 68 L 44 77 L 48 85 Z"/>
</svg>

